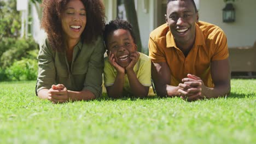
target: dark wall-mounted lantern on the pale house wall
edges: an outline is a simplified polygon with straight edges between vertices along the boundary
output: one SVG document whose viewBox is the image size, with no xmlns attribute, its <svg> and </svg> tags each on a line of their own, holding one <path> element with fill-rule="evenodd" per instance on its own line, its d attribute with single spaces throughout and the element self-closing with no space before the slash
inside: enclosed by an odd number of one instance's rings
<svg viewBox="0 0 256 144">
<path fill-rule="evenodd" d="M 235 21 L 235 8 L 232 3 L 227 3 L 223 10 L 223 22 Z"/>
</svg>

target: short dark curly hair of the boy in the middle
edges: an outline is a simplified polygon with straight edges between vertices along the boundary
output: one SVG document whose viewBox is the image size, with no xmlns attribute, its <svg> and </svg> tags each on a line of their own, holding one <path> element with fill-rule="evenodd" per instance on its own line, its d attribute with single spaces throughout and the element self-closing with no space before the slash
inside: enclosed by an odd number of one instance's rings
<svg viewBox="0 0 256 144">
<path fill-rule="evenodd" d="M 110 33 L 112 33 L 113 31 L 115 31 L 117 29 L 125 29 L 125 30 L 129 31 L 131 34 L 131 37 L 133 39 L 133 43 L 136 44 L 135 34 L 132 31 L 131 23 L 129 23 L 128 21 L 125 21 L 125 20 L 112 20 L 105 26 L 105 29 L 103 32 L 103 39 L 104 39 L 104 43 L 105 43 L 105 46 L 107 49 L 108 49 L 107 37 Z"/>
</svg>

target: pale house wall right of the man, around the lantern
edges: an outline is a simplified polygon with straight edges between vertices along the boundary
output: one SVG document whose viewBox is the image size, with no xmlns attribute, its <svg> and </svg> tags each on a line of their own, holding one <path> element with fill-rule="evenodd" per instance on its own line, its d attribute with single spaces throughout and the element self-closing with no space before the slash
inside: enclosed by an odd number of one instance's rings
<svg viewBox="0 0 256 144">
<path fill-rule="evenodd" d="M 213 23 L 226 34 L 228 46 L 253 46 L 256 41 L 256 2 L 255 0 L 237 0 L 234 2 L 236 20 L 232 23 L 222 22 L 223 0 L 201 0 L 199 19 Z"/>
</svg>

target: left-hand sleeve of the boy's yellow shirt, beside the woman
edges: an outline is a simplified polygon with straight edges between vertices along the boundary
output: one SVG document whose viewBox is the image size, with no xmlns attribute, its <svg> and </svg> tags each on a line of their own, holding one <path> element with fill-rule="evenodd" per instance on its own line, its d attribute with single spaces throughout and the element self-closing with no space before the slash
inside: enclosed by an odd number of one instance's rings
<svg viewBox="0 0 256 144">
<path fill-rule="evenodd" d="M 104 86 L 113 86 L 115 82 L 115 73 L 113 71 L 112 65 L 108 61 L 108 57 L 104 61 Z"/>
</svg>

